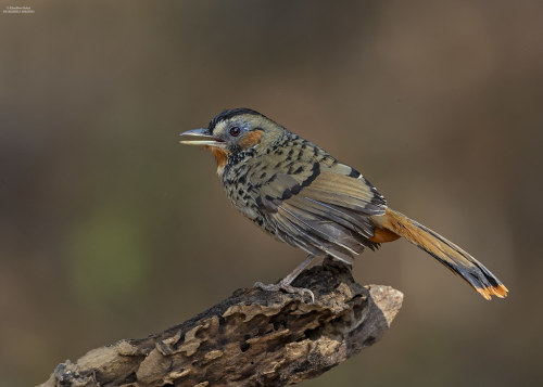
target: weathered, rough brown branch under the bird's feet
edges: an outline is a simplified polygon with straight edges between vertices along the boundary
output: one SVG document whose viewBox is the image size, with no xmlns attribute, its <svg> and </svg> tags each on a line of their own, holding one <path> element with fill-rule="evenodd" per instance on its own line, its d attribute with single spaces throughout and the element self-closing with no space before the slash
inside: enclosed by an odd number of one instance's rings
<svg viewBox="0 0 543 387">
<path fill-rule="evenodd" d="M 315 302 L 238 289 L 203 313 L 142 339 L 125 339 L 56 366 L 41 386 L 282 386 L 315 377 L 379 339 L 402 306 L 388 286 L 363 287 L 332 260 L 295 286 Z"/>
</svg>

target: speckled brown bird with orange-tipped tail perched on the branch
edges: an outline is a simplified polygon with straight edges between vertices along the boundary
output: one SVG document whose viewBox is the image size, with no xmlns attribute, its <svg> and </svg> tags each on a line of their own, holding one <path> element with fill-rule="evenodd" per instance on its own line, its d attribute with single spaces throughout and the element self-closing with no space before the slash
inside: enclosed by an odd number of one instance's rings
<svg viewBox="0 0 543 387">
<path fill-rule="evenodd" d="M 233 206 L 279 241 L 307 257 L 264 291 L 308 295 L 295 278 L 318 257 L 352 267 L 367 247 L 401 237 L 418 246 L 482 297 L 504 298 L 508 289 L 481 262 L 426 225 L 390 208 L 384 196 L 356 169 L 311 141 L 251 108 L 227 109 L 206 128 L 180 133 L 181 144 L 211 151 Z"/>
</svg>

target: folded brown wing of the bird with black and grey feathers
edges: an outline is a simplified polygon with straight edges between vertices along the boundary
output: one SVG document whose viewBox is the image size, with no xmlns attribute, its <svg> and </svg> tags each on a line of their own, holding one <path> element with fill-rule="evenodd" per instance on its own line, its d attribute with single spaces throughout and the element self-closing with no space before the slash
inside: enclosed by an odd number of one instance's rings
<svg viewBox="0 0 543 387">
<path fill-rule="evenodd" d="M 257 205 L 285 242 L 352 263 L 364 246 L 376 247 L 369 217 L 384 214 L 384 198 L 346 165 L 306 166 L 262 184 Z"/>
</svg>

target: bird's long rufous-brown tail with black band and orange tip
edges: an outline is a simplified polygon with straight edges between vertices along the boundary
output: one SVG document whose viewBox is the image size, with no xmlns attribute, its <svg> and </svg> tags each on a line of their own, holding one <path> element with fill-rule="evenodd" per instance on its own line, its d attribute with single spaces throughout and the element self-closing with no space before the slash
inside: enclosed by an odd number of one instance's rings
<svg viewBox="0 0 543 387">
<path fill-rule="evenodd" d="M 507 287 L 481 262 L 415 220 L 390 208 L 387 208 L 384 216 L 374 216 L 371 220 L 376 225 L 375 242 L 388 242 L 397 238 L 396 235 L 403 236 L 462 276 L 485 299 L 491 299 L 491 296 L 507 296 Z"/>
</svg>

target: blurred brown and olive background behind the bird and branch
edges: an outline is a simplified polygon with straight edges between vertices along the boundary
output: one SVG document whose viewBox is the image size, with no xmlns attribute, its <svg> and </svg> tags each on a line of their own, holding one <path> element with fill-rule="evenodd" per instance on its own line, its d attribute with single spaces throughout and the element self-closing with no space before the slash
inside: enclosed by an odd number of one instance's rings
<svg viewBox="0 0 543 387">
<path fill-rule="evenodd" d="M 404 307 L 303 386 L 541 382 L 542 2 L 1 0 L 26 4 L 0 14 L 0 385 L 304 258 L 178 144 L 237 106 L 362 170 L 510 289 L 484 301 L 405 241 L 367 251 L 355 278 Z"/>
</svg>

